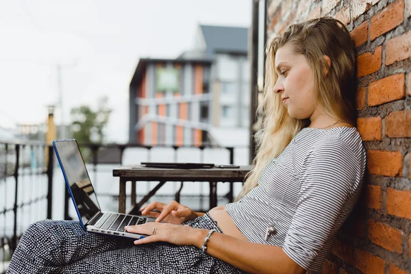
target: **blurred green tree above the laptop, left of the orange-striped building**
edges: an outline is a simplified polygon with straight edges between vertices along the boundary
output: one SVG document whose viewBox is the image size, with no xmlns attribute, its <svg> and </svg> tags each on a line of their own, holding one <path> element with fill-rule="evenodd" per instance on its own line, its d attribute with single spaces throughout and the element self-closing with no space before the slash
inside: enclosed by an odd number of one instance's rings
<svg viewBox="0 0 411 274">
<path fill-rule="evenodd" d="M 103 130 L 112 112 L 107 103 L 108 97 L 101 97 L 98 99 L 96 111 L 88 105 L 80 105 L 71 109 L 71 130 L 77 142 L 101 144 L 104 141 Z"/>
</svg>

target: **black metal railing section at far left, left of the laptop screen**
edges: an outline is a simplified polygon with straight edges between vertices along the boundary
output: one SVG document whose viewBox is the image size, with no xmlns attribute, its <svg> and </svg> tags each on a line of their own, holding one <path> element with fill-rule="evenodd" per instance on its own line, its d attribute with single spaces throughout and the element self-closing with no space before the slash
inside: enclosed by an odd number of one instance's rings
<svg viewBox="0 0 411 274">
<path fill-rule="evenodd" d="M 0 142 L 0 273 L 27 224 L 51 219 L 53 157 L 49 155 L 53 148 L 42 143 Z"/>
</svg>

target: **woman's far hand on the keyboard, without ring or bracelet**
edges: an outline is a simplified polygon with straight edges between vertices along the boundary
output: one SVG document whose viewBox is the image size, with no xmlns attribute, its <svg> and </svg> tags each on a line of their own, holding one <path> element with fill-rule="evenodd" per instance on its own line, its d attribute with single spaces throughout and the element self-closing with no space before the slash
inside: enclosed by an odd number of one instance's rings
<svg viewBox="0 0 411 274">
<path fill-rule="evenodd" d="M 158 210 L 158 212 L 153 212 Z M 155 201 L 140 209 L 142 215 L 156 218 L 155 222 L 160 223 L 164 220 L 166 223 L 179 225 L 185 221 L 196 219 L 199 214 L 190 210 L 186 206 L 182 206 L 177 201 L 171 201 L 168 205 Z"/>
</svg>

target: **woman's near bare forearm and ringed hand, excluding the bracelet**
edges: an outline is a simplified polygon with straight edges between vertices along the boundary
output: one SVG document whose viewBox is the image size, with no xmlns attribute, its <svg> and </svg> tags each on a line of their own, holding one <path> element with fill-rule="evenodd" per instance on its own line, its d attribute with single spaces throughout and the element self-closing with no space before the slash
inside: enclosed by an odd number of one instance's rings
<svg viewBox="0 0 411 274">
<path fill-rule="evenodd" d="M 155 234 L 153 228 L 155 227 Z M 147 234 L 136 240 L 136 245 L 148 242 L 171 242 L 175 245 L 193 245 L 199 249 L 204 243 L 207 229 L 173 225 L 171 223 L 145 223 L 125 227 L 127 232 Z M 306 271 L 291 260 L 282 247 L 256 244 L 239 240 L 232 236 L 213 233 L 207 243 L 207 253 L 249 273 L 305 273 Z"/>
</svg>

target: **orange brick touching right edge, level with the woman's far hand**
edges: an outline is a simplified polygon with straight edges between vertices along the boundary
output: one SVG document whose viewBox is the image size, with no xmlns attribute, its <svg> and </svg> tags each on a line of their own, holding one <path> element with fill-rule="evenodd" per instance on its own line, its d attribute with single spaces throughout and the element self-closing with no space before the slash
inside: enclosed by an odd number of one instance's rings
<svg viewBox="0 0 411 274">
<path fill-rule="evenodd" d="M 387 213 L 411 220 L 411 190 L 387 188 Z"/>
</svg>

